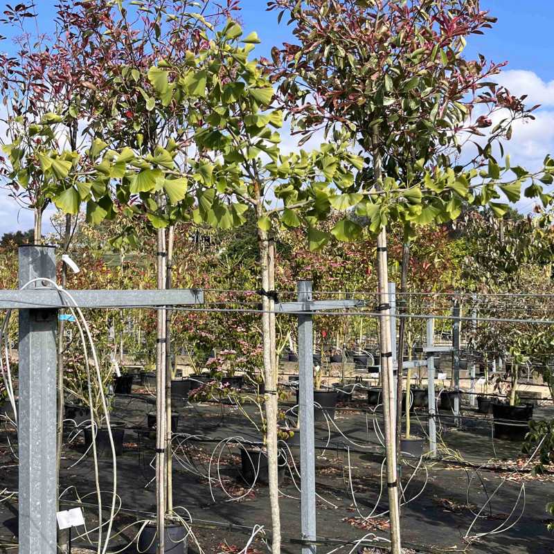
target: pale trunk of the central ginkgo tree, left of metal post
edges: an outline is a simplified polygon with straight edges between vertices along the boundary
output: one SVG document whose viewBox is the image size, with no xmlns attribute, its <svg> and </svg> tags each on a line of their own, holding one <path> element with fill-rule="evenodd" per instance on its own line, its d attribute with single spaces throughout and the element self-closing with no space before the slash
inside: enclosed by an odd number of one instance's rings
<svg viewBox="0 0 554 554">
<path fill-rule="evenodd" d="M 258 204 L 261 211 L 261 204 Z M 258 213 L 258 217 L 260 213 Z M 260 250 L 260 273 L 262 289 L 271 290 L 271 270 L 269 269 L 269 237 L 266 231 L 258 229 L 258 247 Z M 265 380 L 265 419 L 267 462 L 269 476 L 269 503 L 271 506 L 271 552 L 280 554 L 281 530 L 279 513 L 278 457 L 277 457 L 277 379 L 274 373 L 275 351 L 271 343 L 275 337 L 275 316 L 269 312 L 275 311 L 275 302 L 269 295 L 262 295 L 262 341 Z M 272 330 L 273 324 L 273 330 Z"/>
</svg>

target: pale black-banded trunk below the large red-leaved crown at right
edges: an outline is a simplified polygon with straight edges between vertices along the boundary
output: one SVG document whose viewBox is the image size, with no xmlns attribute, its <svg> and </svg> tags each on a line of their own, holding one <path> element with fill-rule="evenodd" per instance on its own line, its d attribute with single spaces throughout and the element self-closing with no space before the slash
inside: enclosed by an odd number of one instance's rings
<svg viewBox="0 0 554 554">
<path fill-rule="evenodd" d="M 375 184 L 381 186 L 382 157 L 379 152 L 379 137 L 377 129 L 373 129 L 373 171 Z M 386 242 L 386 227 L 383 226 L 377 235 L 377 277 L 379 292 L 379 334 L 381 350 L 381 375 L 383 392 L 383 418 L 385 431 L 386 481 L 388 490 L 388 510 L 391 521 L 391 553 L 400 554 L 400 503 L 398 495 L 398 479 L 396 471 L 396 441 L 395 441 L 395 402 L 394 402 L 394 375 L 393 352 L 391 337 L 391 307 L 388 294 L 388 256 Z"/>
</svg>

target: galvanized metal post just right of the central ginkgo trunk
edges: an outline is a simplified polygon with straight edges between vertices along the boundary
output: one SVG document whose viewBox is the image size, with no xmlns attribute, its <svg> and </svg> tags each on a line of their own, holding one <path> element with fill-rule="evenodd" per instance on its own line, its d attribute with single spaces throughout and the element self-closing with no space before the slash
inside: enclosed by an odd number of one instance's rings
<svg viewBox="0 0 554 554">
<path fill-rule="evenodd" d="M 298 302 L 312 301 L 312 281 L 298 281 Z M 307 308 L 307 306 L 306 306 Z M 307 311 L 303 308 L 301 311 Z M 316 475 L 314 448 L 314 328 L 312 314 L 298 315 L 298 418 L 300 419 L 300 473 L 302 539 L 316 539 Z M 305 546 L 302 554 L 315 554 Z"/>
</svg>

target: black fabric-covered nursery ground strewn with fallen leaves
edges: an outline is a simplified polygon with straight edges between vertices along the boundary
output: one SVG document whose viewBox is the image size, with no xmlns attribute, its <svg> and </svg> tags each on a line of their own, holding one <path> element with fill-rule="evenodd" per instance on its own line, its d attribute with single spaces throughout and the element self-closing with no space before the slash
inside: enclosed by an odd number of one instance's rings
<svg viewBox="0 0 554 554">
<path fill-rule="evenodd" d="M 292 400 L 292 397 L 291 397 Z M 292 402 L 290 403 L 292 406 Z M 367 409 L 363 397 L 343 405 L 344 409 L 337 411 L 335 428 L 325 422 L 316 424 L 316 443 L 319 445 L 316 460 L 317 492 L 321 499 L 317 501 L 318 535 L 328 539 L 328 544 L 319 546 L 321 553 L 329 552 L 339 546 L 332 544 L 335 540 L 356 541 L 367 533 L 375 533 L 378 537 L 387 536 L 386 516 L 379 516 L 387 508 L 386 488 L 382 487 L 381 465 L 382 447 L 375 433 L 374 420 L 382 427 L 380 413 L 364 413 L 357 408 Z M 118 494 L 125 508 L 118 515 L 114 529 L 122 530 L 144 515 L 137 515 L 132 510 L 153 512 L 155 494 L 152 485 L 147 483 L 154 476 L 150 461 L 154 456 L 154 443 L 145 433 L 146 413 L 154 410 L 153 399 L 135 395 L 134 397 L 118 397 L 114 410 L 114 420 L 125 421 L 129 428 L 125 436 L 125 452 L 118 457 L 117 481 Z M 189 404 L 181 406 L 179 411 L 179 433 L 202 435 L 212 442 L 198 443 L 187 441 L 177 447 L 177 456 L 187 467 L 195 469 L 204 476 L 193 474 L 190 470 L 175 461 L 173 472 L 173 489 L 175 506 L 183 506 L 190 511 L 194 519 L 193 530 L 204 552 L 239 551 L 246 544 L 250 531 L 256 524 L 271 528 L 269 513 L 269 498 L 267 487 L 260 485 L 240 501 L 227 501 L 219 482 L 213 483 L 213 494 L 206 476 L 211 452 L 217 444 L 217 439 L 240 436 L 246 440 L 259 440 L 259 435 L 244 415 L 233 406 L 217 404 Z M 538 410 L 537 415 L 550 412 L 551 408 Z M 253 406 L 248 413 L 255 415 Z M 421 494 L 404 506 L 402 510 L 402 536 L 404 546 L 421 551 L 467 551 L 475 553 L 552 553 L 554 550 L 552 535 L 546 530 L 545 506 L 548 501 L 554 501 L 554 474 L 548 474 L 539 479 L 530 474 L 515 474 L 513 470 L 521 467 L 516 462 L 519 454 L 519 443 L 503 440 L 492 440 L 490 422 L 487 418 L 472 419 L 475 414 L 465 411 L 469 418 L 463 418 L 461 427 L 453 427 L 452 418 L 442 414 L 439 420 L 440 444 L 443 452 L 457 461 L 470 461 L 476 465 L 488 464 L 479 474 L 471 468 L 451 463 L 425 461 L 420 465 L 406 489 L 406 498 Z M 540 417 L 540 415 L 539 415 Z M 420 418 L 422 421 L 424 418 Z M 412 418 L 413 429 L 424 431 L 418 425 L 418 418 Z M 425 425 L 424 425 L 425 427 Z M 142 430 L 139 430 L 142 429 Z M 377 427 L 377 431 L 379 428 Z M 346 439 L 346 437 L 351 441 Z M 17 488 L 17 465 L 10 454 L 6 439 L 15 439 L 15 434 L 6 437 L 2 432 L 0 438 L 1 472 L 0 490 Z M 182 438 L 182 437 L 181 437 Z M 296 436 L 296 439 L 298 436 Z M 176 445 L 179 441 L 176 441 Z M 296 441 L 290 441 L 291 452 L 298 465 L 298 448 Z M 91 456 L 85 457 L 78 465 L 82 454 L 82 445 L 76 441 L 66 445 L 64 450 L 62 470 L 62 490 L 69 490 L 66 499 L 75 500 L 75 492 L 84 497 L 94 491 L 93 462 Z M 323 447 L 329 443 L 327 449 Z M 350 446 L 350 462 L 346 446 Z M 447 451 L 448 449 L 451 449 Z M 455 456 L 458 452 L 459 456 Z M 186 457 L 185 455 L 188 455 Z M 193 464 L 193 465 L 190 465 Z M 402 467 L 402 482 L 409 481 L 417 461 L 404 463 Z M 217 478 L 216 464 L 212 463 L 211 476 Z M 351 479 L 349 477 L 349 467 Z M 502 469 L 504 468 L 504 470 Z M 247 492 L 244 481 L 240 479 L 240 455 L 238 446 L 230 445 L 223 449 L 220 460 L 222 482 L 230 494 L 239 496 Z M 427 473 L 427 476 L 426 476 Z M 478 542 L 467 544 L 464 540 L 467 529 L 474 519 L 473 512 L 478 512 L 487 494 L 490 495 L 503 480 L 499 492 L 494 495 L 490 509 L 483 510 L 482 516 L 472 528 L 472 535 L 494 530 L 508 517 L 512 508 L 519 503 L 508 524 L 515 524 L 503 533 L 487 535 Z M 109 503 L 111 487 L 111 460 L 100 461 L 100 479 L 102 490 L 107 491 L 102 497 L 103 503 Z M 521 479 L 525 481 L 524 494 L 521 493 Z M 471 480 L 470 492 L 467 495 L 468 482 Z M 298 481 L 298 479 L 297 479 Z M 350 483 L 351 481 L 351 483 Z M 486 494 L 485 490 L 486 489 Z M 352 501 L 350 488 L 355 492 L 357 508 Z M 300 504 L 298 490 L 289 476 L 285 476 L 281 486 L 280 499 L 283 552 L 297 553 L 301 547 L 291 542 L 300 537 Z M 380 499 L 379 499 L 380 494 Z M 95 503 L 96 495 L 91 494 L 86 499 Z M 375 508 L 378 502 L 377 508 Z M 525 502 L 523 515 L 521 511 Z M 71 505 L 67 505 L 70 507 Z M 96 508 L 85 508 L 87 521 L 95 524 Z M 357 511 L 359 510 L 359 512 Z M 365 521 L 360 515 L 366 516 L 373 511 L 373 519 Z M 104 512 L 104 517 L 108 514 Z M 519 515 L 519 521 L 515 521 Z M 229 524 L 242 526 L 242 532 L 237 528 L 229 528 Z M 224 526 L 228 526 L 225 528 Z M 132 542 L 138 526 L 125 530 L 114 539 L 109 551 Z M 6 501 L 0 504 L 0 543 L 13 544 L 17 541 L 17 502 Z M 86 542 L 78 541 L 86 547 Z M 238 546 L 238 550 L 235 550 Z M 265 551 L 261 542 L 255 542 L 253 547 Z M 344 547 L 341 552 L 348 553 L 352 546 Z M 197 552 L 195 544 L 190 544 L 189 551 Z M 249 551 L 255 552 L 249 548 Z M 134 553 L 135 547 L 129 546 L 127 552 Z"/>
</svg>

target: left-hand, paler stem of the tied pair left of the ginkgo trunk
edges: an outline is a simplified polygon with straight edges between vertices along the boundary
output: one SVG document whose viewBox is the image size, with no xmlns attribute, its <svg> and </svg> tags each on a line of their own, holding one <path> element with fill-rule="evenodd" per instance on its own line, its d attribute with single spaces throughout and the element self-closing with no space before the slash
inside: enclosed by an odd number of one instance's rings
<svg viewBox="0 0 554 554">
<path fill-rule="evenodd" d="M 158 231 L 157 287 L 166 286 L 166 232 Z M 166 528 L 166 310 L 158 310 L 156 341 L 156 502 L 158 554 L 164 554 Z"/>
</svg>

